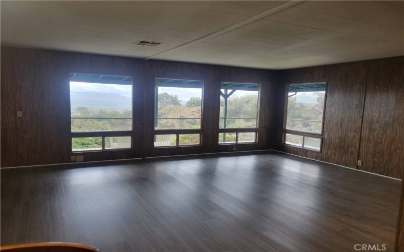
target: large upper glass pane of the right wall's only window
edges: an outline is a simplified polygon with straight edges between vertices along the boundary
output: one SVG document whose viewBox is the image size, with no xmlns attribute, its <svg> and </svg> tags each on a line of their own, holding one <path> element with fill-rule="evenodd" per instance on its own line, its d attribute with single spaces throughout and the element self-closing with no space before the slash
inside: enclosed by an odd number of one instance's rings
<svg viewBox="0 0 404 252">
<path fill-rule="evenodd" d="M 286 129 L 321 134 L 325 85 L 325 83 L 289 85 Z"/>
</svg>

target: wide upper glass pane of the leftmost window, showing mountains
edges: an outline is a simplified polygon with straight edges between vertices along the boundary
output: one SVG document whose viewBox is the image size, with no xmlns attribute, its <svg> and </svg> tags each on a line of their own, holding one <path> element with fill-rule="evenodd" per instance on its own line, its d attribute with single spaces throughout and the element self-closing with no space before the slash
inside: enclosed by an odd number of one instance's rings
<svg viewBox="0 0 404 252">
<path fill-rule="evenodd" d="M 132 78 L 70 74 L 72 132 L 132 130 Z"/>
</svg>

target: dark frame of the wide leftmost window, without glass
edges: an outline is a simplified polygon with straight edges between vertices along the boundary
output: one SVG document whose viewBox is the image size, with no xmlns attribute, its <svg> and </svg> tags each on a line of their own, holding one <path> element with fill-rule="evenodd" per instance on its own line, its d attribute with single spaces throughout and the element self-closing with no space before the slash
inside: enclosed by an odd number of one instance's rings
<svg viewBox="0 0 404 252">
<path fill-rule="evenodd" d="M 130 86 L 132 87 L 132 93 L 131 93 L 131 129 L 127 131 L 75 131 L 72 132 L 72 111 L 71 111 L 71 100 L 70 100 L 70 74 L 82 74 L 82 75 L 106 75 L 106 76 L 119 76 L 119 77 L 129 77 L 132 79 L 132 84 Z M 134 109 L 133 109 L 133 76 L 130 74 L 98 74 L 98 73 L 79 73 L 79 72 L 74 72 L 72 71 L 71 73 L 68 74 L 68 86 L 69 86 L 69 127 L 70 127 L 70 152 L 72 154 L 77 154 L 77 153 L 87 153 L 87 152 L 110 152 L 110 151 L 128 151 L 133 149 L 133 115 L 134 115 Z M 108 83 L 106 83 L 108 84 Z M 113 84 L 113 83 L 111 83 Z M 129 84 L 120 84 L 120 85 L 129 85 Z M 114 118 L 111 118 L 114 119 Z M 73 145 L 72 145 L 72 139 L 73 138 L 85 138 L 85 137 L 101 137 L 102 138 L 102 149 L 101 150 L 90 150 L 90 151 L 73 151 Z M 119 149 L 105 149 L 105 138 L 106 137 L 130 137 L 130 148 L 119 148 Z"/>
</svg>

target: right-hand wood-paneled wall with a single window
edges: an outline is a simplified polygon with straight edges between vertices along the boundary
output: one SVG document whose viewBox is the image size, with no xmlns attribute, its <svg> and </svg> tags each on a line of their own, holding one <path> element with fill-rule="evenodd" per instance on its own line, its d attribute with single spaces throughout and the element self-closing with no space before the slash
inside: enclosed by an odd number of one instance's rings
<svg viewBox="0 0 404 252">
<path fill-rule="evenodd" d="M 275 148 L 395 178 L 404 164 L 404 56 L 280 71 Z M 322 152 L 282 144 L 286 85 L 327 82 Z M 362 160 L 362 166 L 357 161 Z"/>
</svg>

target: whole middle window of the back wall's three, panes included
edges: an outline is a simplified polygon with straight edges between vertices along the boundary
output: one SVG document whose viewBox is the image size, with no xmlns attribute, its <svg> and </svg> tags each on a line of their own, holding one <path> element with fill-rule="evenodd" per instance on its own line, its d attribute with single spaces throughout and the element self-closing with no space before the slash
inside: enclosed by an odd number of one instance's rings
<svg viewBox="0 0 404 252">
<path fill-rule="evenodd" d="M 203 82 L 156 78 L 155 147 L 200 145 Z"/>
</svg>

